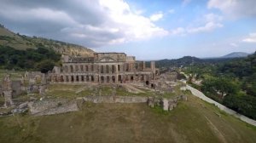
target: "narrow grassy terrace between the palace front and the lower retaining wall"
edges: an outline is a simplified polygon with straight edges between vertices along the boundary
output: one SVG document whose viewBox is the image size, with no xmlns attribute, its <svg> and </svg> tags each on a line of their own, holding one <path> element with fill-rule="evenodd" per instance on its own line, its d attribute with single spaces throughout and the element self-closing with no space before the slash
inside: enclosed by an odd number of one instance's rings
<svg viewBox="0 0 256 143">
<path fill-rule="evenodd" d="M 67 97 L 67 98 L 76 98 L 76 97 L 83 97 L 86 95 L 119 95 L 119 96 L 153 96 L 153 95 L 160 95 L 160 93 L 156 91 L 152 91 L 149 89 L 141 89 L 143 93 L 131 93 L 128 92 L 123 86 L 121 85 L 90 85 L 90 84 L 49 84 L 47 96 L 51 97 Z M 138 88 L 139 89 L 139 88 Z M 182 94 L 179 90 L 179 87 L 174 89 L 174 93 L 165 93 L 161 94 L 163 97 L 172 97 L 175 95 Z"/>
</svg>

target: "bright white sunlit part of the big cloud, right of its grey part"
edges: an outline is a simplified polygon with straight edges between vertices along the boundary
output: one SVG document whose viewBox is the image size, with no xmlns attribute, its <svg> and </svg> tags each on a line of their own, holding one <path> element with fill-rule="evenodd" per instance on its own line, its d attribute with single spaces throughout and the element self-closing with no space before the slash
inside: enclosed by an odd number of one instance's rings
<svg viewBox="0 0 256 143">
<path fill-rule="evenodd" d="M 168 32 L 164 29 L 155 26 L 150 20 L 156 21 L 163 17 L 163 14 L 154 14 L 148 19 L 131 11 L 128 3 L 123 0 L 100 0 L 102 7 L 107 8 L 111 19 L 115 24 L 118 24 L 120 31 L 125 31 L 123 41 L 131 41 L 148 37 L 165 36 Z M 119 37 L 120 38 L 120 37 Z M 119 42 L 120 40 L 112 40 Z M 113 43 L 113 42 L 112 42 Z"/>
</svg>

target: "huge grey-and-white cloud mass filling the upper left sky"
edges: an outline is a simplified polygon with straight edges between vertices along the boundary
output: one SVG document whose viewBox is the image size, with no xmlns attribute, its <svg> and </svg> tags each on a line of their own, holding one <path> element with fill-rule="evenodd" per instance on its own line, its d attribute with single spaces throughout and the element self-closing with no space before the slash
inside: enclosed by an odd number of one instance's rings
<svg viewBox="0 0 256 143">
<path fill-rule="evenodd" d="M 168 34 L 153 23 L 163 14 L 148 18 L 142 13 L 141 9 L 131 9 L 124 0 L 26 0 L 3 1 L 0 5 L 0 21 L 23 30 L 19 32 L 90 48 Z"/>
</svg>

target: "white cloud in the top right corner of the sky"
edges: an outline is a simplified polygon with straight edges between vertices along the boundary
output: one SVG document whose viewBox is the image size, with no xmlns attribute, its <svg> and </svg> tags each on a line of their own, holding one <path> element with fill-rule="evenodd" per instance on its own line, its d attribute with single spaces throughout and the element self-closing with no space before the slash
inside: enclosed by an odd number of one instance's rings
<svg viewBox="0 0 256 143">
<path fill-rule="evenodd" d="M 208 9 L 220 9 L 231 19 L 256 16 L 255 0 L 209 0 Z"/>
</svg>

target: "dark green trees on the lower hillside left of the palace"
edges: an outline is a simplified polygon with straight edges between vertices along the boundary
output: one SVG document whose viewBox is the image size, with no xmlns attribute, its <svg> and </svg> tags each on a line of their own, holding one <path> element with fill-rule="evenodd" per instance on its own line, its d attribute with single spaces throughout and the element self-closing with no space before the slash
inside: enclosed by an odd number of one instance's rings
<svg viewBox="0 0 256 143">
<path fill-rule="evenodd" d="M 48 72 L 60 64 L 61 54 L 49 49 L 18 50 L 0 45 L 0 68 L 19 71 Z"/>
</svg>

